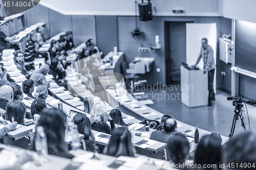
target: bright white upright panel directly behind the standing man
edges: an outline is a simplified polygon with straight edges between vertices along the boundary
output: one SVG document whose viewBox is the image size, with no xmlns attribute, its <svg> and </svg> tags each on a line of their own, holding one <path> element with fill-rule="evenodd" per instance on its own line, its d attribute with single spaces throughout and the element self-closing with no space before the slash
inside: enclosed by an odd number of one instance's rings
<svg viewBox="0 0 256 170">
<path fill-rule="evenodd" d="M 201 39 L 207 38 L 208 45 L 214 51 L 216 64 L 216 47 L 217 47 L 217 27 L 216 23 L 186 23 L 186 63 L 194 65 L 201 49 Z M 203 60 L 201 59 L 198 65 L 203 69 Z M 216 69 L 214 76 L 214 91 L 216 93 Z"/>
</svg>

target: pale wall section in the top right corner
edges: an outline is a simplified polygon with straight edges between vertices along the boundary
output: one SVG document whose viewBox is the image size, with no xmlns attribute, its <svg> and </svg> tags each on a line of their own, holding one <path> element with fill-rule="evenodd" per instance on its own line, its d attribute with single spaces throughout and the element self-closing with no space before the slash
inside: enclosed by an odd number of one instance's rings
<svg viewBox="0 0 256 170">
<path fill-rule="evenodd" d="M 223 16 L 256 23 L 255 7 L 255 0 L 223 0 Z"/>
</svg>

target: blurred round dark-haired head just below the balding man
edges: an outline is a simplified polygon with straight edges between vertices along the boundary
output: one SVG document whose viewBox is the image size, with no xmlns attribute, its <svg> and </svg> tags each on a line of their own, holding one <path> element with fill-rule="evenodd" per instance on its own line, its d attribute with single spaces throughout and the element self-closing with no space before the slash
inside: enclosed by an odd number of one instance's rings
<svg viewBox="0 0 256 170">
<path fill-rule="evenodd" d="M 170 161 L 175 165 L 183 164 L 186 162 L 189 148 L 189 142 L 183 134 L 174 134 L 172 137 L 170 137 L 166 147 L 169 153 Z"/>
</svg>

